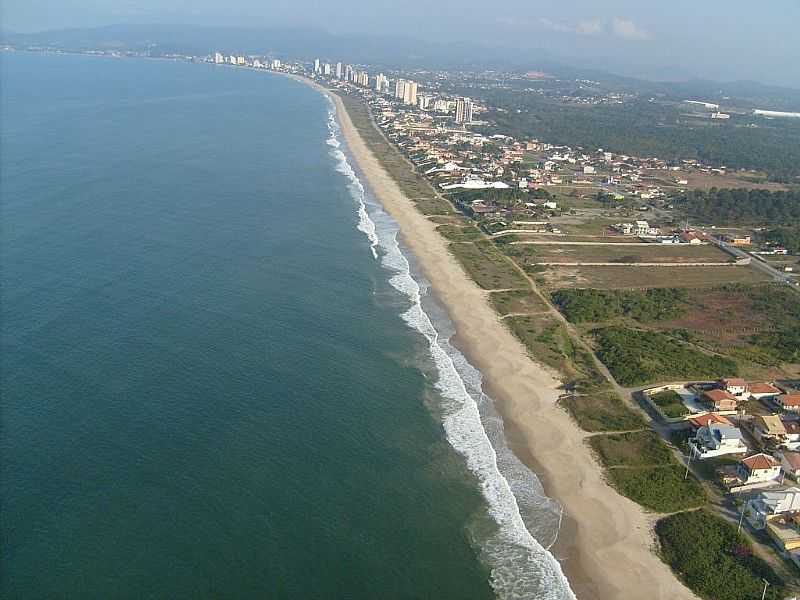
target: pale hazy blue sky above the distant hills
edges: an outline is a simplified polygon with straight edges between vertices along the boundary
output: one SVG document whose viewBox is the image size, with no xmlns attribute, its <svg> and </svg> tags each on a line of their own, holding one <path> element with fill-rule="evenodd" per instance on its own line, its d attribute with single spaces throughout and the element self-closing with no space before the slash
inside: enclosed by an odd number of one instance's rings
<svg viewBox="0 0 800 600">
<path fill-rule="evenodd" d="M 2 0 L 0 22 L 23 32 L 116 23 L 315 27 L 503 46 L 521 60 L 544 51 L 647 79 L 800 88 L 800 0 Z"/>
</svg>

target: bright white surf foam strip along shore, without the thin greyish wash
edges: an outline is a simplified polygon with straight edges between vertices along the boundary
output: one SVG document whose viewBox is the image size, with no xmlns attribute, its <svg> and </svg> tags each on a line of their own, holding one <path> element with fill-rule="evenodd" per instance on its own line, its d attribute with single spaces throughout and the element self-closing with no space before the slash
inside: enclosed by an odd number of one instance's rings
<svg viewBox="0 0 800 600">
<path fill-rule="evenodd" d="M 410 308 L 401 315 L 403 320 L 428 341 L 438 374 L 434 386 L 444 402 L 445 436 L 476 476 L 489 513 L 497 524 L 495 533 L 485 540 L 479 540 L 481 553 L 491 568 L 492 587 L 500 598 L 574 600 L 575 595 L 560 563 L 531 535 L 525 525 L 511 486 L 500 472 L 498 455 L 484 429 L 478 403 L 467 390 L 453 358 L 443 347 L 449 347 L 449 344 L 440 340 L 439 332 L 423 309 L 421 288 L 400 249 L 397 228 L 387 231 L 386 235 L 378 235 L 376 224 L 367 212 L 364 186 L 341 149 L 333 103 L 328 128 L 331 135 L 327 143 L 334 149 L 332 154 L 337 159 L 336 169 L 347 176 L 348 187 L 358 203 L 358 229 L 367 236 L 376 259 L 377 249 L 381 248 L 381 264 L 393 273 L 389 279 L 390 285 L 410 301 Z"/>
</svg>

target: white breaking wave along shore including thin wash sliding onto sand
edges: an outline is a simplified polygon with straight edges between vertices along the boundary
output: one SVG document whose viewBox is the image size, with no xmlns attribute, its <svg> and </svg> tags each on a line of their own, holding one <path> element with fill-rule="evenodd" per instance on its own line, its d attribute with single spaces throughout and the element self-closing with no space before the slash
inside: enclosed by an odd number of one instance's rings
<svg viewBox="0 0 800 600">
<path fill-rule="evenodd" d="M 450 344 L 449 335 L 440 334 L 452 324 L 442 315 L 437 319 L 437 329 L 423 307 L 424 301 L 433 302 L 433 298 L 424 279 L 417 276 L 418 281 L 412 274 L 397 240 L 397 224 L 377 203 L 370 203 L 369 208 L 380 217 L 380 232 L 370 217 L 364 186 L 342 151 L 332 103 L 328 127 L 331 136 L 327 143 L 333 148 L 336 168 L 347 176 L 358 204 L 358 229 L 367 236 L 376 259 L 381 250 L 381 265 L 392 273 L 389 284 L 409 300 L 410 307 L 402 319 L 428 342 L 447 441 L 464 457 L 486 500 L 494 526 L 475 543 L 490 568 L 492 588 L 502 599 L 574 600 L 560 563 L 547 550 L 558 535 L 561 506 L 544 495 L 535 474 L 508 449 L 502 419 L 481 390 L 480 372 Z M 526 508 L 526 518 L 520 502 Z"/>
</svg>

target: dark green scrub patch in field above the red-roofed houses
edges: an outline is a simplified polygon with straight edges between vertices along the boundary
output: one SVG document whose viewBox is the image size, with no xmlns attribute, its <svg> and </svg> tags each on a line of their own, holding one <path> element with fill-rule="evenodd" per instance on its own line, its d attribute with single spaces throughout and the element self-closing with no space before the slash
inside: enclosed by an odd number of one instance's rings
<svg viewBox="0 0 800 600">
<path fill-rule="evenodd" d="M 592 333 L 598 342 L 598 358 L 622 385 L 738 374 L 738 365 L 730 358 L 705 354 L 666 333 L 627 327 L 605 327 Z"/>
</svg>

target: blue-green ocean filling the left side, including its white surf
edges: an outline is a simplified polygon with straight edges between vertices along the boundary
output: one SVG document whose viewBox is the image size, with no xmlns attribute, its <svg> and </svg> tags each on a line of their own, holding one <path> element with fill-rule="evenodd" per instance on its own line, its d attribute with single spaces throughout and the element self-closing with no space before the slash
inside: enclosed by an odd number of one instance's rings
<svg viewBox="0 0 800 600">
<path fill-rule="evenodd" d="M 332 103 L 4 53 L 3 598 L 572 598 Z"/>
</svg>

